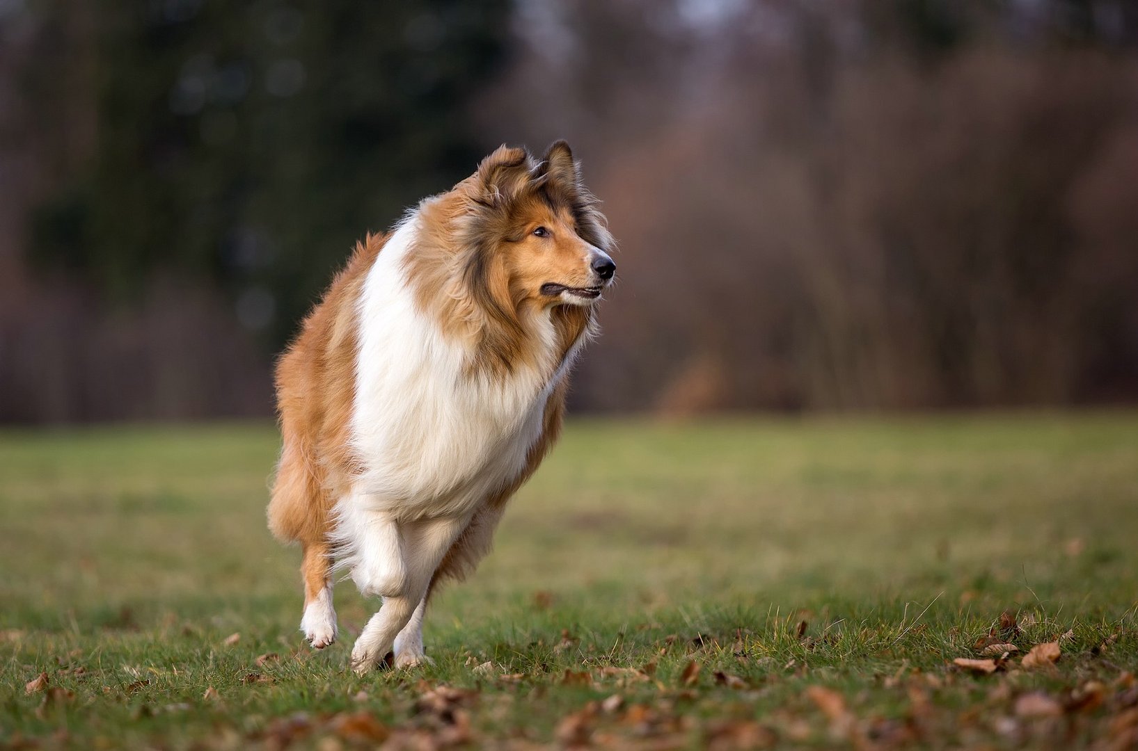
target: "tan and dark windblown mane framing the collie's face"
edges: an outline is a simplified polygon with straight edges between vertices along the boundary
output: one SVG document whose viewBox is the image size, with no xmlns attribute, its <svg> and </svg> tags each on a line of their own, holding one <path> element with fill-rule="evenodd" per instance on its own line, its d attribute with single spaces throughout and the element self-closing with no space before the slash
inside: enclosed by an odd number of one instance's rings
<svg viewBox="0 0 1138 751">
<path fill-rule="evenodd" d="M 599 201 L 582 184 L 568 147 L 554 144 L 538 160 L 525 149 L 501 147 L 478 170 L 446 193 L 424 200 L 418 234 L 405 260 L 420 311 L 444 334 L 469 347 L 468 376 L 488 378 L 518 367 L 550 367 L 552 376 L 575 343 L 595 333 L 592 308 L 559 306 L 551 311 L 552 361 L 535 331 L 526 292 L 512 289 L 498 244 L 517 240 L 517 210 L 527 201 L 563 207 L 586 242 L 609 252 L 615 241 Z"/>
</svg>

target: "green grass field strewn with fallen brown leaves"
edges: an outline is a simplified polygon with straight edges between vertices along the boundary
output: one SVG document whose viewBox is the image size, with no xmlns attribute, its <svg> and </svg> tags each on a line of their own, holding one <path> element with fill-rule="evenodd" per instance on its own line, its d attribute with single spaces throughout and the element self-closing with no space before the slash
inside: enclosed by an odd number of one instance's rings
<svg viewBox="0 0 1138 751">
<path fill-rule="evenodd" d="M 572 423 L 435 665 L 364 677 L 351 583 L 297 631 L 277 441 L 0 433 L 0 746 L 1138 743 L 1138 415 Z"/>
</svg>

